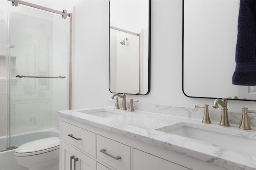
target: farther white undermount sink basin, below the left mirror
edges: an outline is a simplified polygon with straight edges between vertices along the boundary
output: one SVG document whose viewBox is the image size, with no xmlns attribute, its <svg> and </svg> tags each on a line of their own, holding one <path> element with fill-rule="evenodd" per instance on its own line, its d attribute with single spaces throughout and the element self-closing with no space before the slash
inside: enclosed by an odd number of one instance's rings
<svg viewBox="0 0 256 170">
<path fill-rule="evenodd" d="M 122 115 L 120 113 L 114 113 L 111 111 L 107 111 L 106 109 L 81 110 L 79 112 L 86 113 L 89 115 L 98 116 L 98 117 L 103 117 L 103 118 L 118 117 L 118 116 Z"/>
</svg>

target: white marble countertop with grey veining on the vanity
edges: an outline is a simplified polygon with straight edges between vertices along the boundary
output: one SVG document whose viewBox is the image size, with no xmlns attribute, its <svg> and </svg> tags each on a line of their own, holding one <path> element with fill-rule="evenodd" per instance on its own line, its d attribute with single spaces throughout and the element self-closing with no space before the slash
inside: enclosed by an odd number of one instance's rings
<svg viewBox="0 0 256 170">
<path fill-rule="evenodd" d="M 82 111 L 82 112 L 81 112 Z M 111 112 L 110 117 L 104 114 L 95 116 L 92 112 Z M 102 112 L 102 113 L 103 113 Z M 230 127 L 221 127 L 217 122 L 210 124 L 201 123 L 201 120 L 150 113 L 144 111 L 121 111 L 112 107 L 88 108 L 58 111 L 60 116 L 67 117 L 94 127 L 99 127 L 113 133 L 149 143 L 164 149 L 184 154 L 199 160 L 215 164 L 232 170 L 256 170 L 256 128 L 252 130 L 239 129 L 237 125 L 230 124 Z M 89 113 L 89 114 L 86 114 Z M 183 124 L 182 124 L 183 123 Z M 210 142 L 199 141 L 188 137 L 166 133 L 172 126 L 196 126 L 197 128 L 207 129 L 226 133 L 237 137 L 244 137 L 245 142 L 241 146 L 250 147 L 250 152 L 240 152 L 228 147 Z M 156 129 L 160 129 L 156 130 Z M 225 139 L 220 139 L 225 140 Z M 246 141 L 255 140 L 255 145 L 248 146 Z"/>
</svg>

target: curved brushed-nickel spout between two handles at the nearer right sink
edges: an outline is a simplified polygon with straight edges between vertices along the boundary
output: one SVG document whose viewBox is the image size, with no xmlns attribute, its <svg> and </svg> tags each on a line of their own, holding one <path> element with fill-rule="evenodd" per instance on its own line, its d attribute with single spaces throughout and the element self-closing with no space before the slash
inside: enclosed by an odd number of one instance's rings
<svg viewBox="0 0 256 170">
<path fill-rule="evenodd" d="M 219 106 L 222 106 L 221 108 L 221 119 L 220 119 L 220 125 L 221 126 L 230 126 L 228 122 L 228 100 L 225 98 L 223 100 L 216 99 L 213 104 L 213 108 L 217 109 Z"/>
</svg>

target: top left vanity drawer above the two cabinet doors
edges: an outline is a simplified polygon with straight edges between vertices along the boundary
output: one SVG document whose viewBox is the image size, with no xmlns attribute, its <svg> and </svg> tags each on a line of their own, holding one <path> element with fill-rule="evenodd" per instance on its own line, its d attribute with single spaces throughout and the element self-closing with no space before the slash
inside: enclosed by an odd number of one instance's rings
<svg viewBox="0 0 256 170">
<path fill-rule="evenodd" d="M 95 133 L 62 121 L 62 139 L 95 156 Z"/>
</svg>

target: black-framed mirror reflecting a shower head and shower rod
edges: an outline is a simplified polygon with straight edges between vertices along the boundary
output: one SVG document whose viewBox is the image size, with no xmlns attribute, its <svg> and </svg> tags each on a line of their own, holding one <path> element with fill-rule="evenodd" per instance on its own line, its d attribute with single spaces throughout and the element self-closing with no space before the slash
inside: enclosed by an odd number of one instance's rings
<svg viewBox="0 0 256 170">
<path fill-rule="evenodd" d="M 109 1 L 109 90 L 150 92 L 151 0 Z"/>
</svg>

